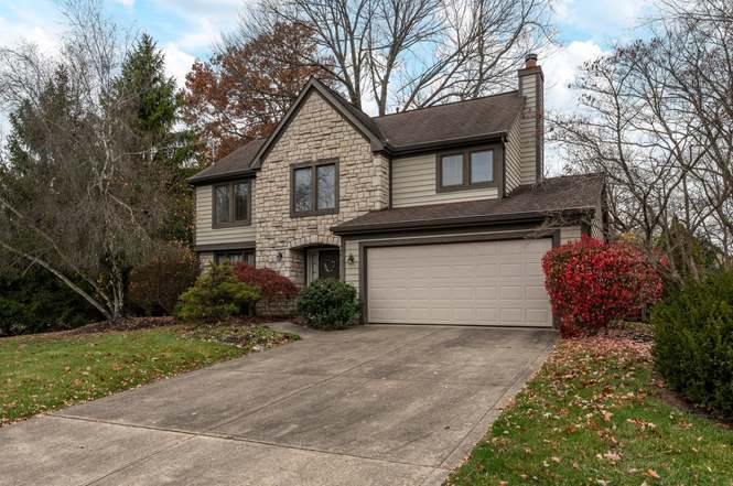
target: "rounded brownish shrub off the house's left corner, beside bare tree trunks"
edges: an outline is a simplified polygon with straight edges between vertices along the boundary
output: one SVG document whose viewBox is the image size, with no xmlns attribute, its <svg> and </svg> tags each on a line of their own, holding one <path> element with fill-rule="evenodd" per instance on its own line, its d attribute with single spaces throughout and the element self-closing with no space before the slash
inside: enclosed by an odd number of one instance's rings
<svg viewBox="0 0 733 486">
<path fill-rule="evenodd" d="M 179 296 L 196 281 L 201 269 L 187 248 L 165 245 L 130 272 L 128 305 L 134 314 L 173 315 Z"/>
</svg>

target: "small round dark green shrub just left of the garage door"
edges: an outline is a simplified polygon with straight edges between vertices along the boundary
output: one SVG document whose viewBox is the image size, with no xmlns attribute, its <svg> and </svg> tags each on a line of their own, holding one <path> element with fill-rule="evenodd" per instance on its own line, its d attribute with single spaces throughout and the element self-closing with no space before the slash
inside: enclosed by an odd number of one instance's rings
<svg viewBox="0 0 733 486">
<path fill-rule="evenodd" d="M 303 323 L 319 330 L 342 330 L 354 325 L 358 315 L 356 290 L 334 279 L 320 279 L 298 296 Z"/>
</svg>

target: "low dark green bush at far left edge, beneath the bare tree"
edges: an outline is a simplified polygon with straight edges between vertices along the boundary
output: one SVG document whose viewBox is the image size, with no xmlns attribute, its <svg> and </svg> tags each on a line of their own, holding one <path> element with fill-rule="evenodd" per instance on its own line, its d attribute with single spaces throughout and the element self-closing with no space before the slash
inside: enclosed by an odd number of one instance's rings
<svg viewBox="0 0 733 486">
<path fill-rule="evenodd" d="M 79 294 L 45 271 L 0 278 L 0 336 L 68 330 L 99 318 Z"/>
</svg>

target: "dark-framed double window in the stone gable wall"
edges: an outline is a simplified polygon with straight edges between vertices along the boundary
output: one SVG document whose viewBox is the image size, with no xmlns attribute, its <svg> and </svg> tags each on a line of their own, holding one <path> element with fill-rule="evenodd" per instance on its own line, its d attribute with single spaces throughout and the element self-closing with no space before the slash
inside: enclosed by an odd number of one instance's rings
<svg viewBox="0 0 733 486">
<path fill-rule="evenodd" d="M 338 161 L 298 164 L 292 171 L 291 216 L 314 216 L 338 212 Z"/>
</svg>

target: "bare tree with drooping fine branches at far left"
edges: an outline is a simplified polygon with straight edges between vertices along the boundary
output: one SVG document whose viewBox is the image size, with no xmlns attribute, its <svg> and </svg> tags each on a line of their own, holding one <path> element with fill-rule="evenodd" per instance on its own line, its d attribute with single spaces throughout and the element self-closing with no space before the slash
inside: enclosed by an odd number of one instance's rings
<svg viewBox="0 0 733 486">
<path fill-rule="evenodd" d="M 0 50 L 0 101 L 12 132 L 0 164 L 0 266 L 40 266 L 107 318 L 125 276 L 165 222 L 170 174 L 130 126 L 116 76 L 125 48 L 94 0 L 64 4 L 60 58 Z"/>
</svg>

